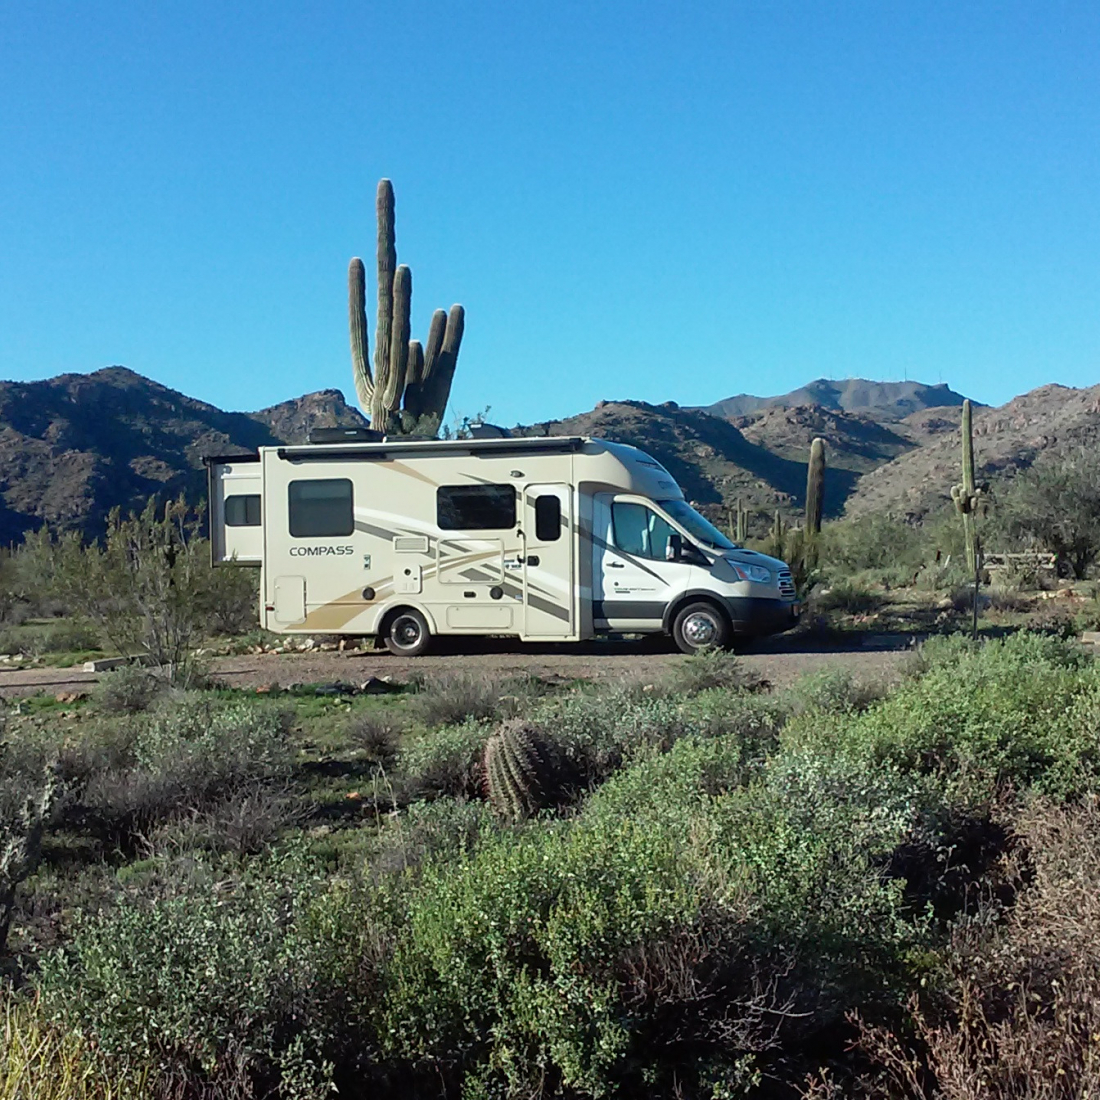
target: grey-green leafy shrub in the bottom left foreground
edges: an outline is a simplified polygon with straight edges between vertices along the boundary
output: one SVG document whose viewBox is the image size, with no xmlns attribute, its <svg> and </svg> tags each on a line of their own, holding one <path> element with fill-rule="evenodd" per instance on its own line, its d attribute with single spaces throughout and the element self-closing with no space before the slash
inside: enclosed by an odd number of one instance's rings
<svg viewBox="0 0 1100 1100">
<path fill-rule="evenodd" d="M 362 1074 L 370 1054 L 367 902 L 296 857 L 243 876 L 193 862 L 45 957 L 43 1009 L 112 1064 L 155 1064 L 187 1094 L 327 1097 L 337 1067 Z"/>
</svg>

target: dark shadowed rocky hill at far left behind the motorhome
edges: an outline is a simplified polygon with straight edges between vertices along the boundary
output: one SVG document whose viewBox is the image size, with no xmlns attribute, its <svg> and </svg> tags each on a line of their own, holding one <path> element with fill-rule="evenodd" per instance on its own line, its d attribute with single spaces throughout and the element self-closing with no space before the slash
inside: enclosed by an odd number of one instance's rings
<svg viewBox="0 0 1100 1100">
<path fill-rule="evenodd" d="M 114 506 L 206 492 L 205 454 L 299 441 L 312 425 L 362 424 L 338 391 L 223 413 L 121 366 L 0 383 L 0 539 L 43 521 L 102 530 Z"/>
</svg>

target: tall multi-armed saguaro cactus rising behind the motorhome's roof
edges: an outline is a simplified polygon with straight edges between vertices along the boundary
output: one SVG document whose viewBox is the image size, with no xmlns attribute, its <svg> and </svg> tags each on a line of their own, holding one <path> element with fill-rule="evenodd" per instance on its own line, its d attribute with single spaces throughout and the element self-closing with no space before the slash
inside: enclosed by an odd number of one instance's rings
<svg viewBox="0 0 1100 1100">
<path fill-rule="evenodd" d="M 378 329 L 374 348 L 374 370 L 366 330 L 366 271 L 353 257 L 348 268 L 348 309 L 351 332 L 352 375 L 355 396 L 378 431 L 432 429 L 442 422 L 451 396 L 451 382 L 462 343 L 465 312 L 451 307 L 450 315 L 437 309 L 432 315 L 425 349 L 410 340 L 413 273 L 397 263 L 394 221 L 394 187 L 378 183 L 377 278 Z M 403 407 L 404 400 L 404 407 Z"/>
</svg>

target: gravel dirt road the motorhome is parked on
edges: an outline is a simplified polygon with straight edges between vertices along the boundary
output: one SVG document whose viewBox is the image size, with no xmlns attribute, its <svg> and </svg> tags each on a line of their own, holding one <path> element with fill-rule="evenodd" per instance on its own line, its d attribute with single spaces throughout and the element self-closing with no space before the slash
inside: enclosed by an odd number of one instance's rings
<svg viewBox="0 0 1100 1100">
<path fill-rule="evenodd" d="M 898 674 L 909 639 L 905 636 L 864 638 L 862 645 L 813 648 L 798 637 L 773 638 L 741 654 L 746 671 L 776 688 L 793 683 L 807 672 L 828 666 L 850 669 L 860 679 Z M 385 650 L 340 652 L 260 653 L 222 657 L 213 661 L 213 673 L 233 688 L 306 683 L 361 684 L 372 676 L 404 682 L 416 673 L 448 670 L 519 673 L 551 680 L 614 681 L 620 676 L 658 678 L 685 658 L 654 649 L 651 641 L 600 641 L 585 645 L 524 646 L 499 639 L 465 642 L 419 658 L 397 658 Z M 79 669 L 24 669 L 0 671 L 0 697 L 13 698 L 35 692 L 86 691 L 98 680 Z"/>
</svg>

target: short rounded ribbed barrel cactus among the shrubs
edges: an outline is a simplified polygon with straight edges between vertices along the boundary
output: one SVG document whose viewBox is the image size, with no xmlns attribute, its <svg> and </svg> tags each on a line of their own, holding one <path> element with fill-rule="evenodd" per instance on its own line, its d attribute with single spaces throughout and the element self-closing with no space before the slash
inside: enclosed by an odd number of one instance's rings
<svg viewBox="0 0 1100 1100">
<path fill-rule="evenodd" d="M 482 768 L 493 809 L 512 821 L 561 801 L 568 785 L 568 768 L 557 743 L 522 718 L 497 727 L 485 744 Z"/>
</svg>

